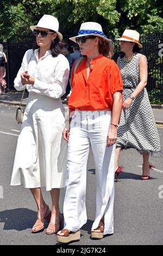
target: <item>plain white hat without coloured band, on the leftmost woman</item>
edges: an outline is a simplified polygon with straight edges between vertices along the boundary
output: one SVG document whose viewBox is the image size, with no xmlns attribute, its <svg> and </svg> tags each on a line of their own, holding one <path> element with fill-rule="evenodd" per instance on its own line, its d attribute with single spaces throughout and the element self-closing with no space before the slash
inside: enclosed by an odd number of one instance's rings
<svg viewBox="0 0 163 256">
<path fill-rule="evenodd" d="M 43 15 L 42 18 L 37 23 L 37 25 L 30 26 L 30 29 L 32 31 L 34 31 L 34 29 L 37 29 L 37 27 L 52 29 L 53 31 L 55 31 L 58 34 L 60 41 L 63 39 L 62 34 L 60 32 L 58 32 L 59 22 L 58 22 L 57 18 L 55 18 L 52 15 L 46 15 L 46 14 Z"/>
</svg>

